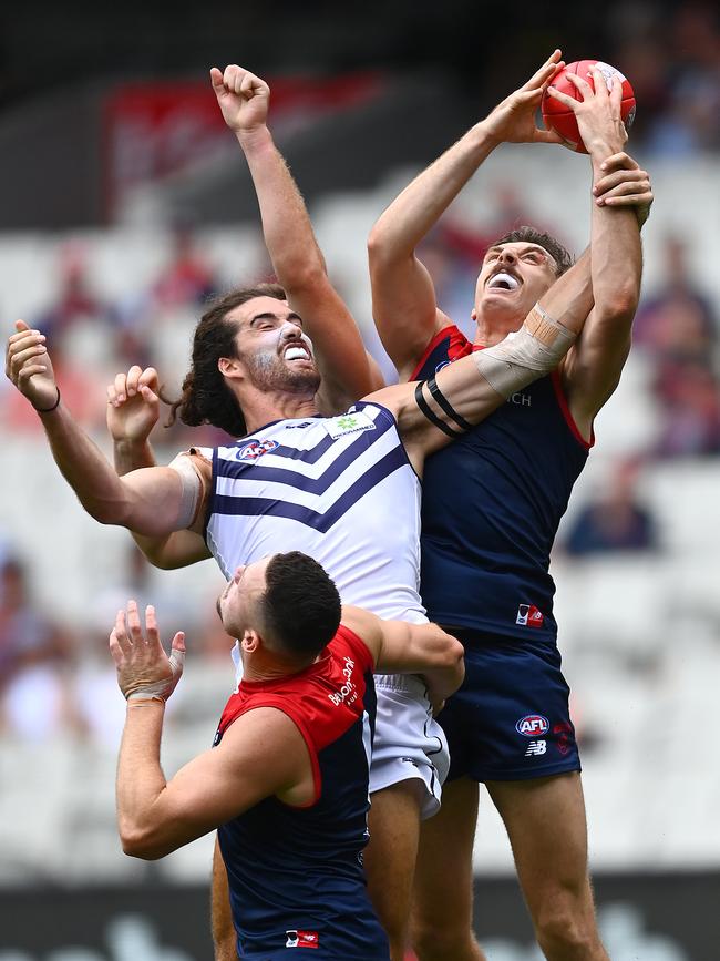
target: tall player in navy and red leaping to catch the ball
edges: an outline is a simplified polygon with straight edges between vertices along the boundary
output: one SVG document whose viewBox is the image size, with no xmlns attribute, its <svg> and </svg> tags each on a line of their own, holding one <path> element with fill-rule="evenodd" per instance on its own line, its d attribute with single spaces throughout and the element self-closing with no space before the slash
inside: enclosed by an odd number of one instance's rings
<svg viewBox="0 0 720 961">
<path fill-rule="evenodd" d="M 520 328 L 568 269 L 557 241 L 518 228 L 487 249 L 473 343 L 438 306 L 415 249 L 502 142 L 558 142 L 535 113 L 562 65 L 556 50 L 518 91 L 421 173 L 369 238 L 373 316 L 401 380 L 432 385 L 443 367 Z M 576 114 L 590 155 L 587 320 L 557 370 L 537 380 L 425 464 L 421 595 L 429 616 L 465 646 L 462 688 L 438 720 L 451 767 L 440 812 L 424 822 L 411 921 L 420 961 L 483 961 L 472 933 L 472 851 L 483 781 L 507 830 L 537 941 L 551 961 L 607 961 L 587 869 L 587 829 L 568 687 L 553 617 L 549 553 L 630 346 L 652 194 L 623 152 L 619 83 L 577 81 Z M 461 436 L 462 435 L 462 436 Z"/>
</svg>

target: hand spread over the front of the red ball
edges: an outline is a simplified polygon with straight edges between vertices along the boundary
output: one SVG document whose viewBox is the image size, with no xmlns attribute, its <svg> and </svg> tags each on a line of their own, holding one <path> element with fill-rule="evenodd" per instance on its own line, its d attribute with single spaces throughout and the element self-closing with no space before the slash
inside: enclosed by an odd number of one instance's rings
<svg viewBox="0 0 720 961">
<path fill-rule="evenodd" d="M 620 115 L 623 83 L 617 76 L 611 76 L 608 86 L 603 71 L 597 65 L 590 68 L 590 74 L 595 89 L 585 78 L 576 73 L 567 74 L 580 100 L 563 93 L 552 84 L 547 88 L 547 92 L 554 100 L 558 100 L 573 111 L 583 143 L 590 155 L 597 157 L 619 153 L 627 141 L 627 131 Z"/>
</svg>

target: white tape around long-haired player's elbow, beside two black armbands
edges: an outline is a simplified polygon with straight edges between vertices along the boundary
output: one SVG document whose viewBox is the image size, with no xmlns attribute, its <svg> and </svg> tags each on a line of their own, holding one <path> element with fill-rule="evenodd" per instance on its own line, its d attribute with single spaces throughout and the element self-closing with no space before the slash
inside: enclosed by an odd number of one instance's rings
<svg viewBox="0 0 720 961">
<path fill-rule="evenodd" d="M 575 334 L 536 304 L 516 334 L 508 334 L 500 344 L 473 356 L 477 370 L 493 390 L 510 398 L 554 370 L 575 338 Z"/>
</svg>

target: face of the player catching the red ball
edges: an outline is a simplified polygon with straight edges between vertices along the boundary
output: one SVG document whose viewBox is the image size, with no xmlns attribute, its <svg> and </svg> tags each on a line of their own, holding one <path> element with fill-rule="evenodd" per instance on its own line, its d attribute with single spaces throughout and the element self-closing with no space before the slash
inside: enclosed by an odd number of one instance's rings
<svg viewBox="0 0 720 961">
<path fill-rule="evenodd" d="M 497 244 L 485 254 L 475 288 L 477 318 L 500 314 L 517 327 L 557 279 L 556 264 L 538 244 Z"/>
</svg>

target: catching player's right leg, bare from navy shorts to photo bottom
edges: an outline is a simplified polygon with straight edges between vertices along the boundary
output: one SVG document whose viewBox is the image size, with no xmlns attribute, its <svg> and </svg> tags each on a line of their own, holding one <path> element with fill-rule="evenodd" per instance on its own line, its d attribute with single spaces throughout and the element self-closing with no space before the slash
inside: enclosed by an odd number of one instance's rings
<svg viewBox="0 0 720 961">
<path fill-rule="evenodd" d="M 577 771 L 487 781 L 515 857 L 537 942 L 548 961 L 608 961 L 587 871 L 587 824 Z"/>
</svg>

